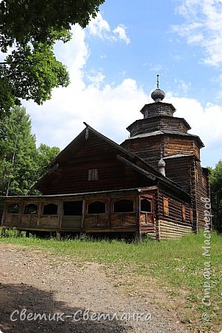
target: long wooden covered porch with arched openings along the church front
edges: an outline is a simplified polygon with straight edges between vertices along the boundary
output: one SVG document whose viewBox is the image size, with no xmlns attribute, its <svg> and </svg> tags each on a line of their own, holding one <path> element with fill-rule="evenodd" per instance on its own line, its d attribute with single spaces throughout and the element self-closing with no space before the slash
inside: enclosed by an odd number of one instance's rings
<svg viewBox="0 0 222 333">
<path fill-rule="evenodd" d="M 65 233 L 128 232 L 155 238 L 155 187 L 4 197 L 1 227 Z"/>
</svg>

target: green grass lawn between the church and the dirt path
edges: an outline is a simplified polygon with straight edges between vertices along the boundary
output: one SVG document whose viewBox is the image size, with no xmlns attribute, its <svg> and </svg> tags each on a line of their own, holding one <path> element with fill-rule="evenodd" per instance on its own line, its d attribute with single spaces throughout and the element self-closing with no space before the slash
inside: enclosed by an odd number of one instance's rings
<svg viewBox="0 0 222 333">
<path fill-rule="evenodd" d="M 86 237 L 57 241 L 25 238 L 24 235 L 15 237 L 13 232 L 8 232 L 8 237 L 1 237 L 0 241 L 46 250 L 55 255 L 71 256 L 76 262 L 98 262 L 103 264 L 104 269 L 107 268 L 108 273 L 111 270 L 116 276 L 121 275 L 121 284 L 125 281 L 127 286 L 130 275 L 132 290 L 138 283 L 138 277 L 143 282 L 153 278 L 158 288 L 182 300 L 180 311 L 192 332 L 196 327 L 203 332 L 210 331 L 210 327 L 214 329 L 212 332 L 220 332 L 222 329 L 222 237 L 216 233 L 212 233 L 209 245 L 204 243 L 203 233 L 187 234 L 176 241 L 146 239 L 140 243 L 127 243 L 116 240 L 93 241 Z M 207 257 L 203 255 L 206 252 L 203 246 L 210 247 Z M 204 276 L 207 271 L 212 274 Z M 208 319 L 207 314 L 210 321 L 202 318 L 205 316 Z"/>
</svg>

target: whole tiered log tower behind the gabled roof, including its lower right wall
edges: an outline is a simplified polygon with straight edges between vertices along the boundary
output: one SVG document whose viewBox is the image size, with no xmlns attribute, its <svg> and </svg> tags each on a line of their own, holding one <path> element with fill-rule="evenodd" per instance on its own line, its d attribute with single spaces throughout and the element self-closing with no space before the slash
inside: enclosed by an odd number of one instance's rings
<svg viewBox="0 0 222 333">
<path fill-rule="evenodd" d="M 184 118 L 173 117 L 176 108 L 163 102 L 165 93 L 159 84 L 157 76 L 157 88 L 151 94 L 154 102 L 145 104 L 140 110 L 144 118 L 128 126 L 130 137 L 121 146 L 191 195 L 194 228 L 197 229 L 201 223 L 204 225 L 200 198 L 210 196 L 208 171 L 200 165 L 200 148 L 204 144 L 200 137 L 188 133 L 191 127 Z M 202 222 L 198 223 L 198 220 Z"/>
</svg>

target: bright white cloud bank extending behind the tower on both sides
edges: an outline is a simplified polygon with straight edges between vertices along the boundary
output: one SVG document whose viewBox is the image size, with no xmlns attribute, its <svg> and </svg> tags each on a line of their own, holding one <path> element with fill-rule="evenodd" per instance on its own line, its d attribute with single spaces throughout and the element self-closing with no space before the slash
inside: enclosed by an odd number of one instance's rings
<svg viewBox="0 0 222 333">
<path fill-rule="evenodd" d="M 148 101 L 153 103 L 133 78 L 125 78 L 118 85 L 108 84 L 100 69 L 85 72 L 90 56 L 86 33 L 75 26 L 73 40 L 62 44 L 61 48 L 60 44 L 56 47 L 58 58 L 68 66 L 69 87 L 54 89 L 52 99 L 42 106 L 24 102 L 31 114 L 38 144 L 64 148 L 85 128 L 83 121 L 114 141 L 122 142 L 128 137 L 125 128 L 142 118 L 139 110 Z M 85 82 L 85 77 L 89 83 Z M 189 88 L 189 83 L 180 81 L 179 84 L 184 89 Z M 207 104 L 203 108 L 200 102 L 175 97 L 175 93 L 168 93 L 164 101 L 175 106 L 175 115 L 184 117 L 192 127 L 191 133 L 199 135 L 206 146 L 221 143 L 222 108 L 219 105 Z"/>
</svg>

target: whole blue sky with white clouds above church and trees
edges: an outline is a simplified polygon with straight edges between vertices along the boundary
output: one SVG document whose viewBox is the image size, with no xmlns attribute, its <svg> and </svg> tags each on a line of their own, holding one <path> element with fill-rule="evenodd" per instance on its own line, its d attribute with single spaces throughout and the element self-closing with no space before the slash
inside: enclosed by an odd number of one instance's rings
<svg viewBox="0 0 222 333">
<path fill-rule="evenodd" d="M 164 101 L 205 143 L 203 166 L 214 167 L 222 158 L 222 0 L 106 0 L 87 28 L 72 30 L 71 42 L 55 46 L 71 85 L 44 105 L 24 102 L 39 144 L 65 148 L 83 121 L 123 142 L 160 74 Z"/>
</svg>

